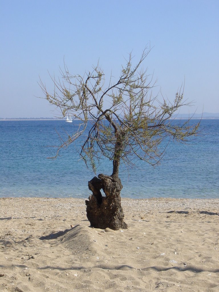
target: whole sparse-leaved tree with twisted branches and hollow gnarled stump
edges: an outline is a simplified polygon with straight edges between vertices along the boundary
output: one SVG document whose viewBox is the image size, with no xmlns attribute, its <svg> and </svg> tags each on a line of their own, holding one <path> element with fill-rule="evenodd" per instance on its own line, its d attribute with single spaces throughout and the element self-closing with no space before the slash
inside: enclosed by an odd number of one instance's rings
<svg viewBox="0 0 219 292">
<path fill-rule="evenodd" d="M 135 66 L 130 53 L 120 77 L 113 82 L 111 76 L 106 87 L 99 64 L 84 76 L 70 74 L 64 64 L 62 79 L 52 78 L 53 94 L 40 81 L 45 98 L 60 109 L 63 117 L 70 113 L 79 120 L 78 131 L 62 140 L 55 157 L 88 129 L 80 152 L 86 165 L 90 163 L 95 171 L 100 157 L 112 161 L 112 175 L 99 174 L 88 182 L 93 194 L 86 200 L 87 217 L 96 228 L 127 228 L 120 198 L 120 163 L 133 166 L 137 158 L 156 166 L 164 155 L 160 147 L 164 139 L 187 142 L 197 134 L 199 124 L 191 125 L 190 119 L 179 124 L 171 120 L 188 105 L 183 102 L 183 92 L 177 92 L 172 103 L 152 97 L 152 77 L 142 69 L 149 52 L 145 49 Z"/>
</svg>

